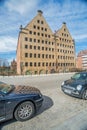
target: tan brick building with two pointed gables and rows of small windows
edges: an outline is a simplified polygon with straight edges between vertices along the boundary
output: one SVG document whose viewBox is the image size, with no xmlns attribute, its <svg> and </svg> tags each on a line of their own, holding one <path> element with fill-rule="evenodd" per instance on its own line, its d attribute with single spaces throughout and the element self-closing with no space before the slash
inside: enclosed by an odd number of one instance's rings
<svg viewBox="0 0 87 130">
<path fill-rule="evenodd" d="M 39 10 L 29 24 L 20 28 L 17 73 L 53 73 L 72 68 L 75 68 L 75 43 L 66 23 L 53 33 Z"/>
</svg>

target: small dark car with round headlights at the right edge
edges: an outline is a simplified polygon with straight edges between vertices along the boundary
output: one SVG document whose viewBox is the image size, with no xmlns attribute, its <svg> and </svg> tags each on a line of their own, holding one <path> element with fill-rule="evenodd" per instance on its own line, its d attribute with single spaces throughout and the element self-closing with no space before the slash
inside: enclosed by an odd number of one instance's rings
<svg viewBox="0 0 87 130">
<path fill-rule="evenodd" d="M 75 73 L 62 83 L 61 89 L 68 95 L 87 99 L 87 72 Z"/>
</svg>

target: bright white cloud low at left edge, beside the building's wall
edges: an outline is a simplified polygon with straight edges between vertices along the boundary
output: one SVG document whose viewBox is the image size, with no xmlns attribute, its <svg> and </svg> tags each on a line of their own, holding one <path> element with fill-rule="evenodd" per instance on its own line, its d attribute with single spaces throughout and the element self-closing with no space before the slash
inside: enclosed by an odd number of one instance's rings
<svg viewBox="0 0 87 130">
<path fill-rule="evenodd" d="M 0 52 L 15 51 L 17 39 L 13 37 L 0 37 Z"/>
</svg>

